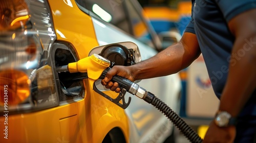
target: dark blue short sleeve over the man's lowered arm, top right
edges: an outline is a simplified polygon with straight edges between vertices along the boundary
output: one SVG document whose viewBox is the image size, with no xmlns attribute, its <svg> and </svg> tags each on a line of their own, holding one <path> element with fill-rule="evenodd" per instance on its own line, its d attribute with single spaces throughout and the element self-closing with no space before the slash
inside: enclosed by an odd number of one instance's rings
<svg viewBox="0 0 256 143">
<path fill-rule="evenodd" d="M 215 0 L 221 9 L 226 21 L 242 12 L 256 8 L 255 0 Z"/>
</svg>

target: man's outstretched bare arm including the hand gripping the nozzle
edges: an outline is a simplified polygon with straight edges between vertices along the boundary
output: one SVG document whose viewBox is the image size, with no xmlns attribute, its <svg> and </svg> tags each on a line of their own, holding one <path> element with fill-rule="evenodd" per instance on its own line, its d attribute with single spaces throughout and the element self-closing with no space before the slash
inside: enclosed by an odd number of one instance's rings
<svg viewBox="0 0 256 143">
<path fill-rule="evenodd" d="M 150 59 L 131 66 L 114 66 L 101 80 L 101 84 L 112 91 L 120 92 L 118 83 L 110 81 L 115 75 L 135 81 L 174 74 L 190 65 L 200 53 L 196 35 L 185 32 L 180 42 L 170 45 Z"/>
</svg>

